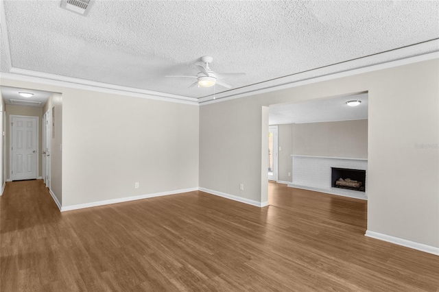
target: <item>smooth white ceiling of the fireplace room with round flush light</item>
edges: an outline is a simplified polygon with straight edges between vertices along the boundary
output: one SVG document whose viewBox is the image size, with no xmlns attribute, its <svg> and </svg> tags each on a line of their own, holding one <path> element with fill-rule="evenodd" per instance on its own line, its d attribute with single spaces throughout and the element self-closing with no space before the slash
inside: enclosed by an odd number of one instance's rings
<svg viewBox="0 0 439 292">
<path fill-rule="evenodd" d="M 346 101 L 359 100 L 356 107 L 346 105 Z M 324 121 L 348 121 L 368 119 L 368 94 L 349 95 L 329 99 L 313 99 L 297 104 L 270 106 L 269 124 L 316 123 Z"/>
</svg>

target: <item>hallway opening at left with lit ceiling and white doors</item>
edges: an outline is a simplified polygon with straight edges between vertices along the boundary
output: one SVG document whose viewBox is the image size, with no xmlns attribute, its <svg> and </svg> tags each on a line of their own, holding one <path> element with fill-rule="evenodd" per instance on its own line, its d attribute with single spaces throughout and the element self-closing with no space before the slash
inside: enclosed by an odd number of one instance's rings
<svg viewBox="0 0 439 292">
<path fill-rule="evenodd" d="M 5 104 L 2 145 L 5 159 L 1 183 L 44 180 L 53 196 L 51 187 L 54 180 L 51 177 L 56 175 L 56 191 L 60 193 L 61 153 L 55 151 L 53 158 L 50 151 L 57 149 L 54 145 L 59 145 L 61 149 L 61 114 L 54 119 L 54 110 L 62 103 L 61 94 L 10 86 L 0 86 L 0 90 Z M 57 127 L 54 127 L 54 121 L 57 121 Z"/>
</svg>

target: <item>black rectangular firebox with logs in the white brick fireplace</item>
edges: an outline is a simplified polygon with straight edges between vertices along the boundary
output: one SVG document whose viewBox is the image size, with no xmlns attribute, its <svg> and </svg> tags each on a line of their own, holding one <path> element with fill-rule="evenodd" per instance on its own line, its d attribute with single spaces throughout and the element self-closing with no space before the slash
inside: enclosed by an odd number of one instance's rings
<svg viewBox="0 0 439 292">
<path fill-rule="evenodd" d="M 366 171 L 331 167 L 331 186 L 349 190 L 366 191 Z"/>
</svg>

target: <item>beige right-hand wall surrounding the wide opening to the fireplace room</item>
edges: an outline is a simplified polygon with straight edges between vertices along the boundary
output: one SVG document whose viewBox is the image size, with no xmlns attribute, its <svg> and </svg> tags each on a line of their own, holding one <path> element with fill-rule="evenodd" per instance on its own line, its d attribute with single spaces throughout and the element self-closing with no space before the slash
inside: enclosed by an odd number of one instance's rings
<svg viewBox="0 0 439 292">
<path fill-rule="evenodd" d="M 427 60 L 205 104 L 200 187 L 258 201 L 262 106 L 368 91 L 368 230 L 439 247 L 439 153 L 414 147 L 439 141 L 438 69 Z"/>
</svg>

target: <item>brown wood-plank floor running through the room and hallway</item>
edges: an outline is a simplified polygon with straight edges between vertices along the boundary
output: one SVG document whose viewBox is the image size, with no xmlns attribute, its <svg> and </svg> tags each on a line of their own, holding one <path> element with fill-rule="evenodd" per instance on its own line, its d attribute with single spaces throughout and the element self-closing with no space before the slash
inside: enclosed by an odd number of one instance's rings
<svg viewBox="0 0 439 292">
<path fill-rule="evenodd" d="M 59 212 L 0 197 L 0 291 L 439 291 L 439 257 L 364 236 L 366 201 L 270 183 L 257 208 L 199 191 Z"/>
</svg>

